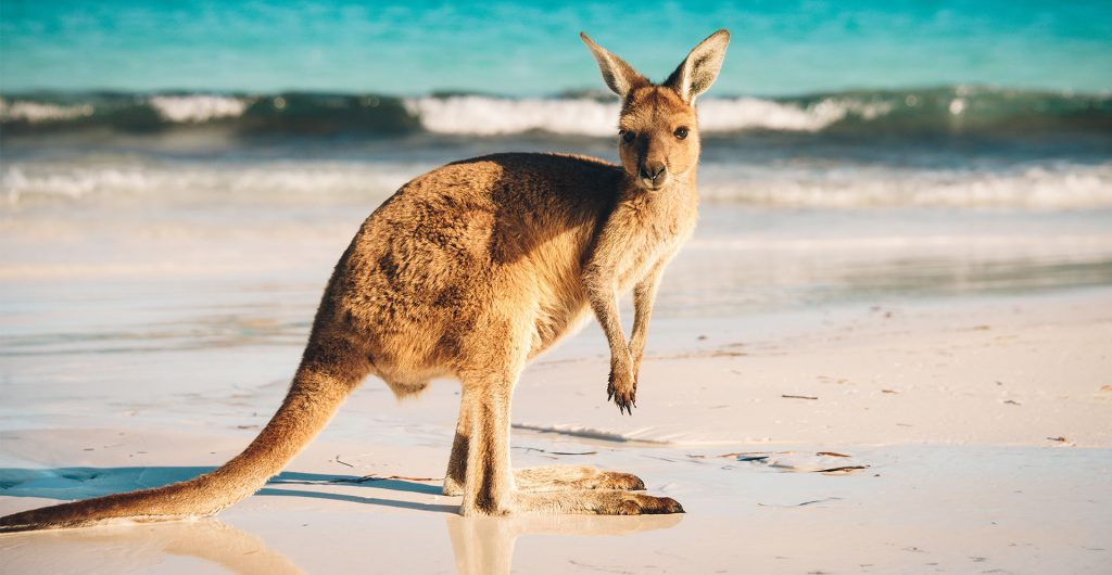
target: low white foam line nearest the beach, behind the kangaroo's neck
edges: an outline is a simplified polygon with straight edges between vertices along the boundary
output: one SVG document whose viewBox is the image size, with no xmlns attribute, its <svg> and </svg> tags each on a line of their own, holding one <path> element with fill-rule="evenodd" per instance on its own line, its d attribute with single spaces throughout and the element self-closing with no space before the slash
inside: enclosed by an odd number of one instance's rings
<svg viewBox="0 0 1112 575">
<path fill-rule="evenodd" d="M 426 163 L 275 161 L 249 163 L 8 162 L 0 196 L 36 199 L 219 195 L 229 200 L 366 196 L 381 200 Z M 699 193 L 708 202 L 770 208 L 1112 208 L 1112 163 L 1042 163 L 1006 170 L 816 168 L 704 163 Z"/>
</svg>

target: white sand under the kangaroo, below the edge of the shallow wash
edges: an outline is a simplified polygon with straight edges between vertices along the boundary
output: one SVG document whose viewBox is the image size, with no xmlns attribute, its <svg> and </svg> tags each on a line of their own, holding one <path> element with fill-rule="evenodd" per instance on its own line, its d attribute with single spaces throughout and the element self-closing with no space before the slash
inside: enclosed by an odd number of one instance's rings
<svg viewBox="0 0 1112 575">
<path fill-rule="evenodd" d="M 605 346 L 588 326 L 526 372 L 515 464 L 634 472 L 686 515 L 461 519 L 435 481 L 332 483 L 441 476 L 456 385 L 395 405 L 371 381 L 218 519 L 2 536 L 0 571 L 1106 573 L 1110 341 L 1106 289 L 664 317 L 628 417 L 604 401 Z M 262 382 L 222 391 L 6 387 L 39 411 L 3 408 L 0 513 L 219 464 L 277 404 L 295 350 L 207 350 L 208 365 L 178 366 Z M 768 458 L 723 456 L 738 452 Z M 866 468 L 813 471 L 843 465 Z"/>
</svg>

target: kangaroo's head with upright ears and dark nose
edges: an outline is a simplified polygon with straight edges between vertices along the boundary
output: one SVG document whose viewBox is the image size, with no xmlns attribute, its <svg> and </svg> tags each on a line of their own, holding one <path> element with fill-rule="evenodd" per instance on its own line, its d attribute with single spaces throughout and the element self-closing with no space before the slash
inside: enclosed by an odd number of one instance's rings
<svg viewBox="0 0 1112 575">
<path fill-rule="evenodd" d="M 631 180 L 647 191 L 685 182 L 699 154 L 695 97 L 718 77 L 729 32 L 718 30 L 699 42 L 659 84 L 649 82 L 587 34 L 580 32 L 579 37 L 598 61 L 606 85 L 622 98 L 618 153 Z"/>
</svg>

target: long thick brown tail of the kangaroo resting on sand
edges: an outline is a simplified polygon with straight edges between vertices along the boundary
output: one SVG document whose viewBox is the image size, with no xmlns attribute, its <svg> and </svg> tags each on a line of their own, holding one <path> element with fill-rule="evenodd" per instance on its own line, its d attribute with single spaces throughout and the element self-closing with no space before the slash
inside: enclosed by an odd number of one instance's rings
<svg viewBox="0 0 1112 575">
<path fill-rule="evenodd" d="M 242 453 L 221 467 L 165 487 L 120 493 L 0 517 L 0 533 L 85 527 L 120 519 L 172 521 L 212 515 L 251 495 L 331 420 L 364 374 L 302 362 L 281 407 Z"/>
</svg>

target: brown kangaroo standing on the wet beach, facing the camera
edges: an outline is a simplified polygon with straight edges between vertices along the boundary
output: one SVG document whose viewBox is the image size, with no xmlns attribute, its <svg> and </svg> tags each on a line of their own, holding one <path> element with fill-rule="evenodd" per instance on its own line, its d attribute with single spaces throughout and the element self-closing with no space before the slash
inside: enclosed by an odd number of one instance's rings
<svg viewBox="0 0 1112 575">
<path fill-rule="evenodd" d="M 241 454 L 165 487 L 8 515 L 0 532 L 216 514 L 278 474 L 368 375 L 399 397 L 436 377 L 460 382 L 444 481 L 446 495 L 463 495 L 460 515 L 682 513 L 672 498 L 638 493 L 645 484 L 627 473 L 510 467 L 518 376 L 588 311 L 609 343 L 607 401 L 632 415 L 661 275 L 695 228 L 695 98 L 717 78 L 729 43 L 726 30 L 715 32 L 654 84 L 579 36 L 622 99 L 620 165 L 505 153 L 403 185 L 336 264 L 289 392 Z M 626 341 L 617 300 L 631 288 Z"/>
</svg>

